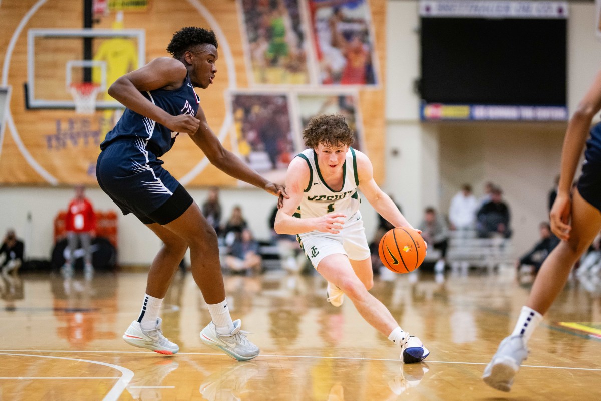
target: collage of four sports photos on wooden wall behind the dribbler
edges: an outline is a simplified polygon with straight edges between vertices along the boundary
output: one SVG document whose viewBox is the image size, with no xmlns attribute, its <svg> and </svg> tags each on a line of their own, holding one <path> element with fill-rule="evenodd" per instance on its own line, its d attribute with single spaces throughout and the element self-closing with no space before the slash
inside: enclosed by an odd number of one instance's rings
<svg viewBox="0 0 601 401">
<path fill-rule="evenodd" d="M 233 149 L 272 180 L 316 115 L 341 114 L 365 151 L 359 90 L 377 88 L 367 0 L 238 0 L 248 90 L 230 91 Z"/>
</svg>

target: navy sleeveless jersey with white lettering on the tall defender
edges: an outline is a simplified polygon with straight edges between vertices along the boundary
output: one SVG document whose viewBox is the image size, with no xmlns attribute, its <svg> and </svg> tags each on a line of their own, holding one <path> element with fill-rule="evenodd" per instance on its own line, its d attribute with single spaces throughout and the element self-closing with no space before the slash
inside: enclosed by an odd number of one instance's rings
<svg viewBox="0 0 601 401">
<path fill-rule="evenodd" d="M 171 115 L 196 115 L 200 102 L 188 75 L 182 87 L 178 89 L 156 89 L 142 92 L 142 95 Z M 171 149 L 177 135 L 178 132 L 171 132 L 156 121 L 126 108 L 115 127 L 106 134 L 105 140 L 100 144 L 100 150 L 105 150 L 117 139 L 141 138 L 145 141 L 145 147 L 155 156 L 160 157 Z"/>
</svg>

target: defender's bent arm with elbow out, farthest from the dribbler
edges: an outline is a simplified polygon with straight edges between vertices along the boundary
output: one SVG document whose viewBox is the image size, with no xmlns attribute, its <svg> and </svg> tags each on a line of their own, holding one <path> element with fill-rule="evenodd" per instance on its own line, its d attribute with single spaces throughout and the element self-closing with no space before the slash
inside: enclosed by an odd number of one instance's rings
<svg viewBox="0 0 601 401">
<path fill-rule="evenodd" d="M 109 87 L 108 93 L 119 103 L 138 114 L 175 132 L 194 133 L 198 129 L 198 120 L 188 114 L 171 115 L 141 92 L 155 89 L 172 90 L 182 86 L 186 78 L 186 66 L 181 61 L 169 57 L 155 58 L 135 71 L 121 76 Z"/>
</svg>

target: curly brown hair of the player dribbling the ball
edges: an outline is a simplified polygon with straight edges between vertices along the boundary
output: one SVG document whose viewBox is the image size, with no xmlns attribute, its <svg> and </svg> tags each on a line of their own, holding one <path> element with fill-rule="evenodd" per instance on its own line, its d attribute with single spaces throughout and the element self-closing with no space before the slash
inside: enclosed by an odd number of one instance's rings
<svg viewBox="0 0 601 401">
<path fill-rule="evenodd" d="M 305 146 L 314 149 L 320 143 L 328 147 L 352 145 L 355 133 L 340 114 L 317 115 L 302 132 Z"/>
</svg>

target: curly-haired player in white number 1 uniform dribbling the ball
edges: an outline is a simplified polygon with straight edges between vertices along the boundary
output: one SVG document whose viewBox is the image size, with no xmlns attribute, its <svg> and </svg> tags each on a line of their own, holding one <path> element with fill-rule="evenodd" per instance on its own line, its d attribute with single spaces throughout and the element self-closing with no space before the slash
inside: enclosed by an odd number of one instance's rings
<svg viewBox="0 0 601 401">
<path fill-rule="evenodd" d="M 413 227 L 377 186 L 367 156 L 350 147 L 353 132 L 344 117 L 313 118 L 303 138 L 308 149 L 288 167 L 285 185 L 290 198 L 278 210 L 275 230 L 298 234 L 314 268 L 328 280 L 328 302 L 338 307 L 348 296 L 365 321 L 401 347 L 404 363 L 424 360 L 429 351 L 419 338 L 403 331 L 368 292 L 373 271 L 357 189 L 395 227 Z"/>
</svg>

